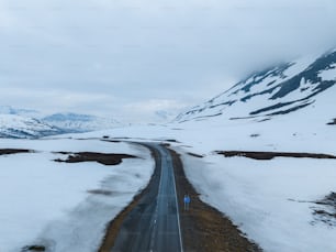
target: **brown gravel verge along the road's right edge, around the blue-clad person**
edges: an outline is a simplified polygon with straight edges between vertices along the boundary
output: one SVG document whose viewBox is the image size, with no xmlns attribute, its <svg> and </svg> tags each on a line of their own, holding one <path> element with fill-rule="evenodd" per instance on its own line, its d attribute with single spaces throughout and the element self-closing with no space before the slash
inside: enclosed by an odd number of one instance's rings
<svg viewBox="0 0 336 252">
<path fill-rule="evenodd" d="M 200 200 L 199 194 L 186 177 L 179 155 L 171 150 L 170 153 L 173 160 L 184 251 L 262 251 L 245 238 L 227 217 Z M 191 197 L 189 211 L 183 210 L 186 193 Z"/>
</svg>

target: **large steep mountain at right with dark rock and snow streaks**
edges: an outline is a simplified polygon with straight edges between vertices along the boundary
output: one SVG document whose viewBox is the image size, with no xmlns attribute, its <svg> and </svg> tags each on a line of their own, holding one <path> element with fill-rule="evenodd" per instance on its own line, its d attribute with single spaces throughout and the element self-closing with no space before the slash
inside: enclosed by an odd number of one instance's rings
<svg viewBox="0 0 336 252">
<path fill-rule="evenodd" d="M 335 84 L 336 50 L 317 59 L 301 58 L 255 73 L 220 96 L 180 113 L 176 121 L 219 116 L 229 120 L 269 120 L 314 105 L 318 95 Z"/>
</svg>

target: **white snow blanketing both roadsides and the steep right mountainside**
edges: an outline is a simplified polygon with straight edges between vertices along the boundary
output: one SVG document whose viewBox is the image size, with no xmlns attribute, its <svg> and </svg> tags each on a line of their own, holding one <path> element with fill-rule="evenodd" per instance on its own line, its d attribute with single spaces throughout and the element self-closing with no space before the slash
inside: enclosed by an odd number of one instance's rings
<svg viewBox="0 0 336 252">
<path fill-rule="evenodd" d="M 296 62 L 283 73 L 283 78 L 305 69 L 310 62 L 313 61 Z M 335 79 L 335 64 L 318 76 L 323 80 Z M 253 91 L 262 91 L 272 80 L 272 77 L 264 79 L 253 87 Z M 315 85 L 301 79 L 301 87 L 310 89 L 302 94 L 298 89 L 277 102 L 306 97 Z M 336 224 L 316 221 L 313 215 L 317 207 L 314 202 L 336 191 L 335 160 L 277 157 L 256 161 L 215 154 L 215 151 L 276 151 L 336 155 L 336 127 L 327 125 L 336 118 L 333 110 L 336 86 L 318 94 L 304 109 L 262 122 L 260 118 L 229 118 L 273 105 L 268 96 L 256 96 L 253 102 L 211 108 L 250 95 L 240 92 L 234 97 L 224 92 L 194 107 L 204 110 L 184 114 L 186 123 L 133 125 L 38 141 L 1 140 L 2 147 L 38 152 L 0 156 L 0 178 L 4 182 L 0 185 L 0 197 L 5 202 L 0 209 L 0 251 L 15 251 L 32 242 L 47 244 L 55 251 L 97 250 L 105 223 L 146 185 L 154 166 L 145 149 L 97 139 L 102 136 L 171 144 L 182 154 L 187 176 L 201 199 L 228 216 L 265 251 L 336 251 Z M 206 118 L 221 112 L 221 117 Z M 194 117 L 200 119 L 188 121 Z M 76 140 L 87 138 L 92 139 Z M 52 162 L 59 156 L 52 153 L 55 151 L 124 152 L 144 160 L 127 160 L 115 167 L 96 163 L 69 165 Z M 190 156 L 189 152 L 204 157 Z M 107 197 L 87 193 L 97 188 L 113 194 Z"/>
</svg>

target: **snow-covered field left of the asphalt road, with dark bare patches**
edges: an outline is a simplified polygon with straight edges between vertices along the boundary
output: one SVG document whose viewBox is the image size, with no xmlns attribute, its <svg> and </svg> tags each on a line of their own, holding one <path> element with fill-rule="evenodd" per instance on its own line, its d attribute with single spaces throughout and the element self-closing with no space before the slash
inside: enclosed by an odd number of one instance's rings
<svg viewBox="0 0 336 252">
<path fill-rule="evenodd" d="M 46 245 L 51 251 L 97 251 L 107 223 L 153 173 L 147 149 L 100 140 L 0 140 L 1 149 L 35 153 L 0 155 L 0 251 Z M 56 163 L 53 152 L 125 153 L 139 158 L 117 166 Z M 109 195 L 90 191 L 108 191 Z"/>
</svg>

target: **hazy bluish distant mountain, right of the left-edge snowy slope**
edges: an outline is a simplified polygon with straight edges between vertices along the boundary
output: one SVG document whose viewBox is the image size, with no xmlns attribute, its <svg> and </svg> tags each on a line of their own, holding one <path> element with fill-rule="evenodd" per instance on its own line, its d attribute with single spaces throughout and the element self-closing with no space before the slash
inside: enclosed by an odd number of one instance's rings
<svg viewBox="0 0 336 252">
<path fill-rule="evenodd" d="M 78 113 L 55 113 L 42 118 L 42 121 L 67 132 L 97 131 L 122 125 L 114 119 Z"/>
</svg>

